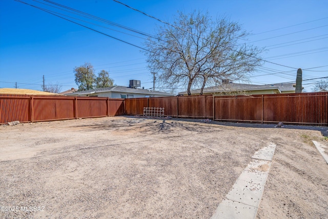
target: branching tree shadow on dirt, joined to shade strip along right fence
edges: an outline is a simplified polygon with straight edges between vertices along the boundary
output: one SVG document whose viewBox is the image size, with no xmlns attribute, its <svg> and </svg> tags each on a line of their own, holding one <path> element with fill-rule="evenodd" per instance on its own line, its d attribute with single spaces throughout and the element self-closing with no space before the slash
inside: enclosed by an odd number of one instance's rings
<svg viewBox="0 0 328 219">
<path fill-rule="evenodd" d="M 281 128 L 277 124 L 259 124 L 259 123 L 232 123 L 219 122 L 208 119 L 194 118 L 171 118 L 171 117 L 144 117 L 144 116 L 121 116 L 122 119 L 108 120 L 106 122 L 96 122 L 91 125 L 75 126 L 84 128 L 84 131 L 108 130 L 108 131 L 134 131 L 147 134 L 155 133 L 178 133 L 179 131 L 191 132 L 211 132 L 213 126 L 199 126 L 197 123 L 218 125 L 215 130 L 222 128 L 219 126 L 243 127 L 243 128 L 275 128 L 275 129 L 299 129 L 320 131 L 323 136 L 328 136 L 327 126 L 297 126 L 283 125 Z M 132 118 L 127 120 L 126 118 Z M 192 123 L 183 123 L 192 122 Z M 196 124 L 195 124 L 196 123 Z M 81 130 L 82 131 L 82 130 Z"/>
</svg>

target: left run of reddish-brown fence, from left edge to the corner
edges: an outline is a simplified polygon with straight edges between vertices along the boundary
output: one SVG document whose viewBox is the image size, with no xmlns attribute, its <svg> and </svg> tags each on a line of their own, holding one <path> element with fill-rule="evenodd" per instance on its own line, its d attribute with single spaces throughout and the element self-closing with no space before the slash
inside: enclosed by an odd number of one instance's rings
<svg viewBox="0 0 328 219">
<path fill-rule="evenodd" d="M 0 94 L 0 124 L 124 115 L 124 99 Z"/>
</svg>

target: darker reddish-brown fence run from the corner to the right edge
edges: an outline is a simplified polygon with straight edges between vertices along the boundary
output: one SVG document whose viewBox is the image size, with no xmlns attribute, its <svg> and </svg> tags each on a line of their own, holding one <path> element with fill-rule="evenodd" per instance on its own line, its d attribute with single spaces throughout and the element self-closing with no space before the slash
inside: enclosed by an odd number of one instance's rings
<svg viewBox="0 0 328 219">
<path fill-rule="evenodd" d="M 216 121 L 328 126 L 328 92 L 252 96 L 177 96 L 126 99 L 126 115 L 164 107 L 172 117 Z"/>
</svg>

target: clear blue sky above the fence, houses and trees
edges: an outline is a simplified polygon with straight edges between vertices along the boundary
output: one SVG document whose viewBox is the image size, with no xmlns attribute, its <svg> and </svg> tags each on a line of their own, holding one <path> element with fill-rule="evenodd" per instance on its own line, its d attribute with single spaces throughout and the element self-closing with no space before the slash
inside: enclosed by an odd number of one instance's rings
<svg viewBox="0 0 328 219">
<path fill-rule="evenodd" d="M 68 15 L 42 0 L 22 0 L 28 4 Z M 104 18 L 110 22 L 154 34 L 162 23 L 110 0 L 53 0 L 61 5 Z M 234 0 L 121 0 L 166 22 L 177 11 L 208 11 L 216 18 L 229 17 L 250 32 L 245 43 L 267 50 L 266 62 L 250 77 L 253 84 L 292 82 L 297 68 L 303 69 L 303 87 L 311 91 L 314 83 L 328 76 L 328 1 L 234 1 Z M 143 47 L 144 36 L 105 23 L 69 14 L 96 23 L 75 22 Z M 71 18 L 70 18 L 71 19 Z M 116 31 L 115 31 L 116 30 Z M 125 33 L 121 33 L 121 32 Z M 140 38 L 141 37 L 141 38 Z M 45 84 L 59 84 L 61 91 L 77 88 L 73 68 L 91 63 L 95 73 L 107 70 L 116 85 L 128 86 L 130 79 L 152 88 L 146 56 L 139 48 L 78 26 L 31 6 L 0 1 L 0 88 L 42 90 Z M 183 89 L 183 88 L 180 88 Z M 182 91 L 176 89 L 176 91 Z"/>
</svg>

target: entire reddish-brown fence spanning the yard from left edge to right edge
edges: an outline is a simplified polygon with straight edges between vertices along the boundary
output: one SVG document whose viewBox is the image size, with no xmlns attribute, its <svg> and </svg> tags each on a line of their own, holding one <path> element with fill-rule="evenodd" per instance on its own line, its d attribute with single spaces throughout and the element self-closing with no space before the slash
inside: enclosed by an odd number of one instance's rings
<svg viewBox="0 0 328 219">
<path fill-rule="evenodd" d="M 165 108 L 166 116 L 177 118 L 328 126 L 328 92 L 132 99 L 0 94 L 0 124 L 143 115 L 144 107 Z"/>
</svg>

